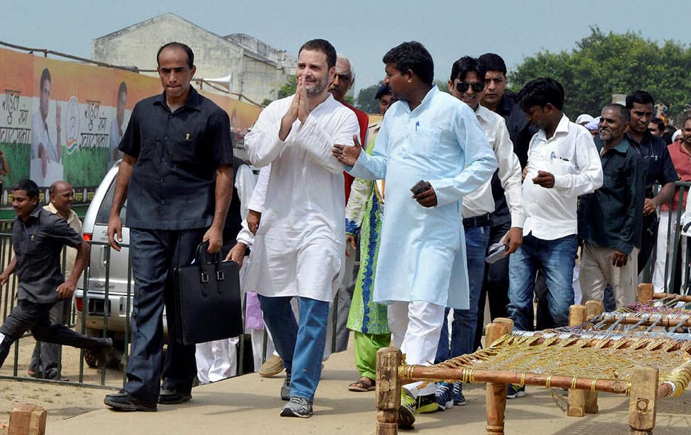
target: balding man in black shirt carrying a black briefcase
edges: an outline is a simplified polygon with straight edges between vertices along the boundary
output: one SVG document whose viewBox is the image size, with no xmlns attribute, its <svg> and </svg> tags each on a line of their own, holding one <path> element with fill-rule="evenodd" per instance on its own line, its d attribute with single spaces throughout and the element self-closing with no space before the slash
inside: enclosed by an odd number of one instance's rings
<svg viewBox="0 0 691 435">
<path fill-rule="evenodd" d="M 176 341 L 173 269 L 189 264 L 200 242 L 216 253 L 233 182 L 233 149 L 227 113 L 191 88 L 192 50 L 178 42 L 158 51 L 164 92 L 140 101 L 118 149 L 124 153 L 108 218 L 108 241 L 122 241 L 120 210 L 127 202 L 135 296 L 128 382 L 104 403 L 122 411 L 155 411 L 156 403 L 191 398 L 197 369 L 194 345 Z M 169 342 L 163 367 L 164 305 Z"/>
</svg>

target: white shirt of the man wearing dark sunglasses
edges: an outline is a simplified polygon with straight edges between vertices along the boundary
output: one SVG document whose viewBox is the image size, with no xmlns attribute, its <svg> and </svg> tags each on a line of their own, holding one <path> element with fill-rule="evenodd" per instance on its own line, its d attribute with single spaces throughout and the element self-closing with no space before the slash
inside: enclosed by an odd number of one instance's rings
<svg viewBox="0 0 691 435">
<path fill-rule="evenodd" d="M 518 157 L 513 153 L 513 142 L 507 130 L 507 123 L 503 117 L 480 104 L 475 109 L 475 116 L 497 157 L 499 179 L 511 213 L 511 226 L 521 228 L 525 220 L 521 169 Z M 463 198 L 463 218 L 472 218 L 493 211 L 492 180 L 482 184 L 480 189 Z"/>
</svg>

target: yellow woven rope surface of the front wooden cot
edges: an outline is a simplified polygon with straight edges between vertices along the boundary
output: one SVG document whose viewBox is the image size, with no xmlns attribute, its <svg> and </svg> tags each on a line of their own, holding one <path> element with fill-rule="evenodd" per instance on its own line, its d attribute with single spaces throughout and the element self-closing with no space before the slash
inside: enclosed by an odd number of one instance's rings
<svg viewBox="0 0 691 435">
<path fill-rule="evenodd" d="M 662 334 L 568 328 L 514 331 L 487 349 L 433 367 L 466 369 L 464 374 L 474 369 L 630 381 L 634 367 L 641 365 L 659 367 L 660 382 L 674 383 L 674 396 L 680 396 L 691 380 L 691 341 Z"/>
</svg>

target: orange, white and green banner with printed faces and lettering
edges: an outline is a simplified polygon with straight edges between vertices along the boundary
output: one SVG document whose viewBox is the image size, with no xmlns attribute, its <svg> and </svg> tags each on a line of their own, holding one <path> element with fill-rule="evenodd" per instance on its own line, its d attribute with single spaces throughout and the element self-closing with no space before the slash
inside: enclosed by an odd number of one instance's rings
<svg viewBox="0 0 691 435">
<path fill-rule="evenodd" d="M 0 206 L 8 205 L 8 189 L 22 178 L 42 188 L 42 202 L 58 180 L 74 186 L 75 204 L 91 201 L 122 158 L 117 146 L 133 107 L 161 92 L 155 76 L 0 49 L 0 158 L 10 166 L 2 177 L 0 165 Z M 227 110 L 234 143 L 261 110 L 226 95 L 202 95 Z"/>
</svg>

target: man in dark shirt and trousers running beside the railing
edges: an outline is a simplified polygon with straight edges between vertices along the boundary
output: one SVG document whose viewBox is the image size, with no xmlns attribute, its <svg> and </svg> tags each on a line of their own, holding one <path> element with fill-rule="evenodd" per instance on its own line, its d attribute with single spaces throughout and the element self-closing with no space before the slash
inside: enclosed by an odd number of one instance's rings
<svg viewBox="0 0 691 435">
<path fill-rule="evenodd" d="M 0 327 L 0 366 L 10 347 L 29 329 L 40 341 L 106 349 L 110 338 L 92 338 L 77 334 L 64 325 L 50 323 L 50 309 L 61 298 L 72 298 L 77 280 L 84 271 L 89 246 L 66 220 L 38 206 L 39 188 L 31 180 L 21 180 L 12 189 L 12 207 L 17 218 L 12 222 L 12 249 L 15 257 L 0 274 L 4 285 L 10 274 L 17 273 L 17 306 Z M 64 245 L 77 249 L 70 279 L 65 281 L 60 269 Z"/>
</svg>

